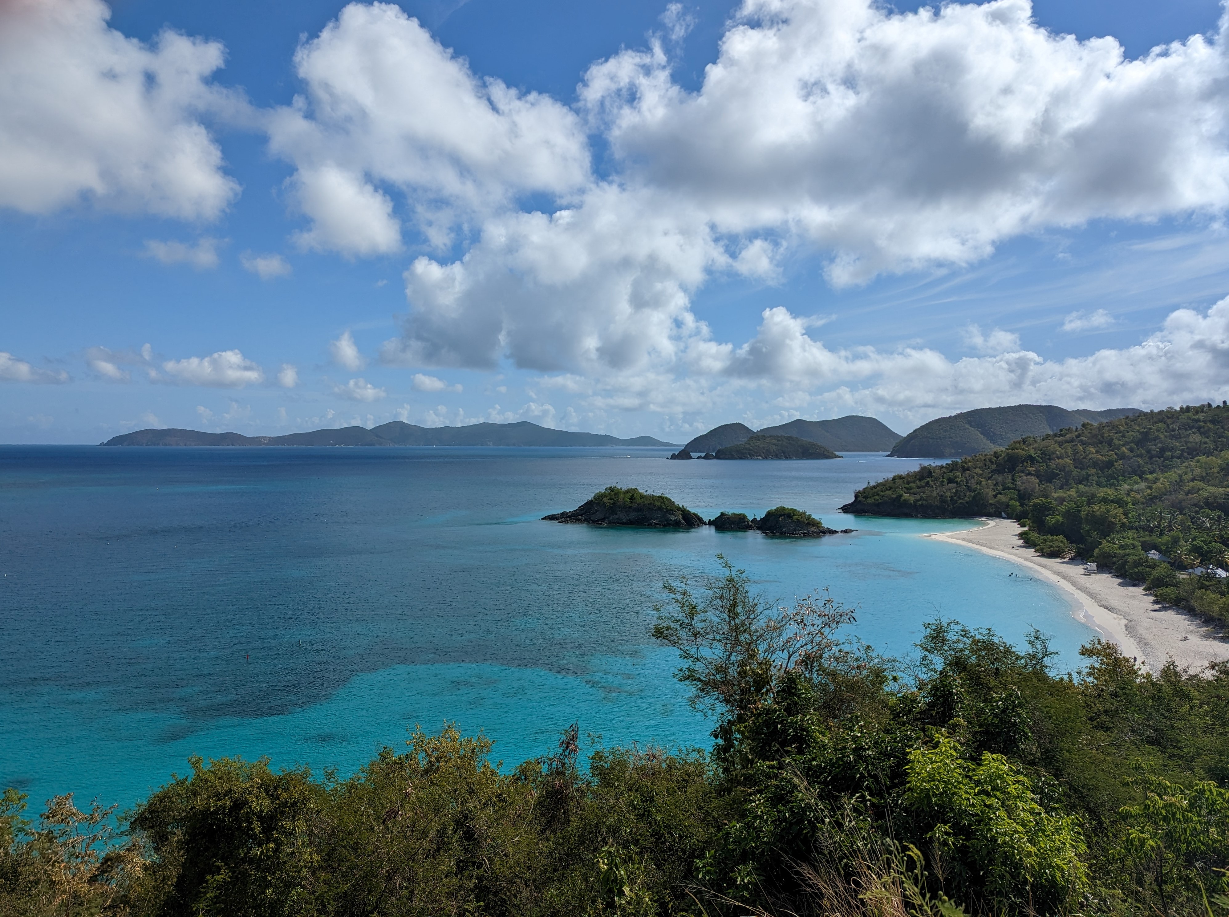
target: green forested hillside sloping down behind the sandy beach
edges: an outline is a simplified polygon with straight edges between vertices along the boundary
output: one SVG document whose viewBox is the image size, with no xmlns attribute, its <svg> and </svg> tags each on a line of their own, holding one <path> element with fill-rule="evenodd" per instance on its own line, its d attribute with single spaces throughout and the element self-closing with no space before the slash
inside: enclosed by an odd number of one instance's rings
<svg viewBox="0 0 1229 917">
<path fill-rule="evenodd" d="M 1229 407 L 1197 404 L 1026 436 L 870 484 L 842 506 L 1008 516 L 1047 557 L 1083 557 L 1161 601 L 1229 620 Z"/>
</svg>

